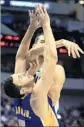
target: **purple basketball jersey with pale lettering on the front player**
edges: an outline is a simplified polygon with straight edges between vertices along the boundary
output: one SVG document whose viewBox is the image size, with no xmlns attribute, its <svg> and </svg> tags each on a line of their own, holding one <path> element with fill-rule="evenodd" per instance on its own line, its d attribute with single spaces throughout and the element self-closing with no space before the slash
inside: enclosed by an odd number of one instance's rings
<svg viewBox="0 0 84 127">
<path fill-rule="evenodd" d="M 34 114 L 30 106 L 30 97 L 31 97 L 31 94 L 28 94 L 27 96 L 25 96 L 24 99 L 19 99 L 19 98 L 14 99 L 14 109 L 19 121 L 19 126 L 43 127 L 43 124 L 40 118 Z M 49 97 L 48 97 L 48 102 L 55 114 L 54 107 L 52 107 L 52 101 Z"/>
</svg>

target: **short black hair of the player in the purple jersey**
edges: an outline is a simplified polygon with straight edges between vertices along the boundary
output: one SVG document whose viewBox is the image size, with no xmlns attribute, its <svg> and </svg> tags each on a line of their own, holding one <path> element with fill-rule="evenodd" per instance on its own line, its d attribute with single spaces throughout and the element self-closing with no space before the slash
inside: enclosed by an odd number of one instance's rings
<svg viewBox="0 0 84 127">
<path fill-rule="evenodd" d="M 19 86 L 15 85 L 13 83 L 13 78 L 10 76 L 5 82 L 4 82 L 4 91 L 5 94 L 11 98 L 21 98 L 24 95 L 20 95 L 20 88 Z"/>
</svg>

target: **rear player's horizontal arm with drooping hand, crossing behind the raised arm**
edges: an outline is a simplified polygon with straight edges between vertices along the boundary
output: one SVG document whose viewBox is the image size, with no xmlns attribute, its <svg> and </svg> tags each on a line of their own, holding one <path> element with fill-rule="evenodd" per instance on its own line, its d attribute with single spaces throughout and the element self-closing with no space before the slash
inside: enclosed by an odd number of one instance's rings
<svg viewBox="0 0 84 127">
<path fill-rule="evenodd" d="M 80 53 L 84 54 L 84 51 L 78 46 L 78 44 L 72 41 L 61 39 L 55 41 L 55 43 L 56 43 L 56 48 L 65 47 L 68 51 L 68 56 L 72 55 L 73 58 L 80 58 Z M 27 54 L 27 59 L 34 59 L 36 56 L 43 54 L 44 45 L 43 44 L 40 46 L 37 45 L 37 47 L 32 48 Z"/>
</svg>

